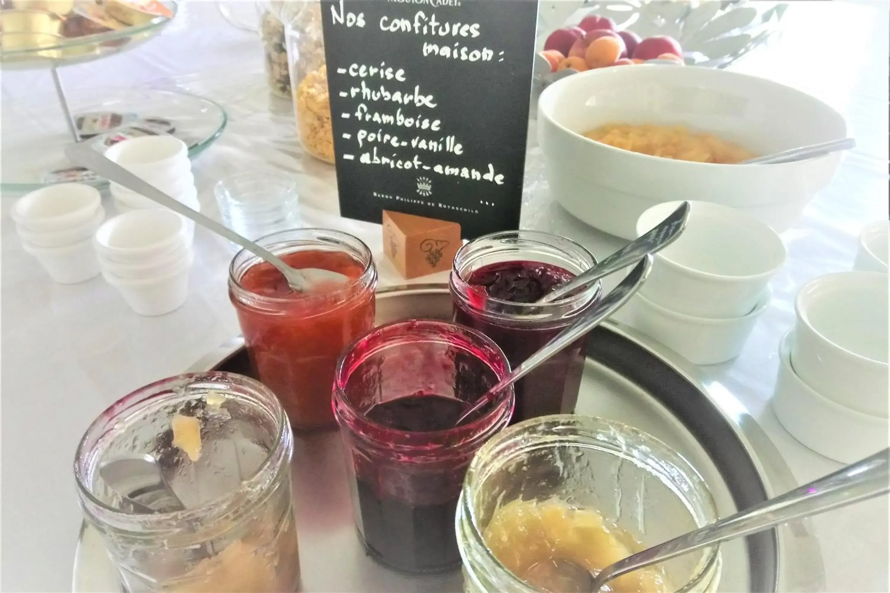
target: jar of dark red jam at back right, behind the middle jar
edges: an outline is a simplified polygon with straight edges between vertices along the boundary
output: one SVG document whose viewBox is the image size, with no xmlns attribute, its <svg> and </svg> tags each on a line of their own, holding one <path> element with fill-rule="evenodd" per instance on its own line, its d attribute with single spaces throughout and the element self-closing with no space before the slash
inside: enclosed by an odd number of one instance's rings
<svg viewBox="0 0 890 593">
<path fill-rule="evenodd" d="M 600 296 L 600 283 L 567 299 L 535 305 L 596 263 L 562 236 L 512 230 L 481 236 L 454 258 L 449 285 L 454 319 L 484 333 L 516 367 L 572 324 Z M 573 413 L 578 401 L 587 336 L 515 384 L 513 423 L 552 413 Z"/>
</svg>

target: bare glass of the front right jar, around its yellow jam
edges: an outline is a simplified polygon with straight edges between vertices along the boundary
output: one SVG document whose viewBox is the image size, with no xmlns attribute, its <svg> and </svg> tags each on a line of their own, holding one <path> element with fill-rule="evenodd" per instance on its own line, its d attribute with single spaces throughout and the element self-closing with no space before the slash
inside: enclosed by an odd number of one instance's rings
<svg viewBox="0 0 890 593">
<path fill-rule="evenodd" d="M 635 540 L 629 546 L 633 552 L 717 517 L 714 499 L 698 472 L 655 437 L 620 422 L 573 414 L 524 421 L 492 437 L 466 472 L 457 507 L 465 591 L 539 590 L 506 569 L 486 545 L 485 533 L 495 511 L 505 505 L 553 498 L 570 508 L 597 511 L 607 528 L 613 525 Z M 562 553 L 595 554 L 590 542 L 597 540 L 587 529 L 580 525 L 574 533 L 574 541 L 583 542 L 581 549 Z M 526 553 L 539 542 L 530 532 L 518 539 L 522 541 L 515 542 L 517 551 Z M 562 533 L 562 541 L 573 539 L 571 533 Z M 614 554 L 608 549 L 605 553 Z M 670 591 L 713 591 L 720 575 L 718 547 L 659 566 Z"/>
</svg>

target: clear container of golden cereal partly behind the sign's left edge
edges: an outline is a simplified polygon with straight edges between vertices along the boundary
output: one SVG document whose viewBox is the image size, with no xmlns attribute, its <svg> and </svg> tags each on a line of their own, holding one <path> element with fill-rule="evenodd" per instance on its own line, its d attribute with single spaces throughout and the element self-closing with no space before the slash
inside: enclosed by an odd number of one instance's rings
<svg viewBox="0 0 890 593">
<path fill-rule="evenodd" d="M 291 2 L 281 17 L 285 25 L 287 64 L 300 143 L 310 155 L 333 164 L 334 132 L 331 129 L 321 4 L 317 0 Z"/>
</svg>

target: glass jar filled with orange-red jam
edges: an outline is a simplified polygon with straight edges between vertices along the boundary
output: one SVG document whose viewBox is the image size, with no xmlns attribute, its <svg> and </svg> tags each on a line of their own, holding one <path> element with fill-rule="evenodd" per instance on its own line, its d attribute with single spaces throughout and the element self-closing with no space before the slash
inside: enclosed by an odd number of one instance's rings
<svg viewBox="0 0 890 593">
<path fill-rule="evenodd" d="M 360 239 L 324 228 L 282 231 L 256 243 L 293 268 L 349 278 L 333 289 L 296 293 L 251 252 L 240 251 L 229 268 L 229 296 L 256 376 L 279 397 L 295 429 L 333 428 L 337 357 L 374 327 L 377 271 L 371 252 Z"/>
</svg>

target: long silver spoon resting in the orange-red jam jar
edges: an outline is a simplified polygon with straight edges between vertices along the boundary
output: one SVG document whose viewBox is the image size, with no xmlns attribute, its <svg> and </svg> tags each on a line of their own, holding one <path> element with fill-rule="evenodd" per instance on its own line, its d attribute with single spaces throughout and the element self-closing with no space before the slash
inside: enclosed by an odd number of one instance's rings
<svg viewBox="0 0 890 593">
<path fill-rule="evenodd" d="M 200 212 L 192 210 L 190 207 L 181 204 L 172 197 L 167 196 L 160 189 L 155 188 L 150 183 L 136 177 L 132 172 L 127 171 L 124 167 L 115 163 L 105 155 L 94 150 L 89 144 L 79 143 L 71 144 L 65 148 L 65 156 L 68 156 L 72 163 L 86 167 L 90 171 L 98 173 L 105 179 L 114 181 L 127 189 L 132 189 L 137 194 L 148 197 L 162 206 L 166 206 L 170 210 L 182 214 L 182 216 L 194 220 L 197 224 L 204 228 L 209 228 L 214 233 L 229 239 L 234 244 L 239 244 L 248 252 L 254 253 L 261 260 L 268 261 L 287 279 L 287 284 L 294 292 L 306 292 L 313 284 L 322 282 L 333 282 L 344 284 L 348 278 L 343 274 L 332 272 L 328 269 L 321 268 L 291 268 L 277 255 L 267 249 L 255 244 L 253 241 L 240 236 L 231 228 L 223 227 L 219 222 L 206 217 Z"/>
</svg>

